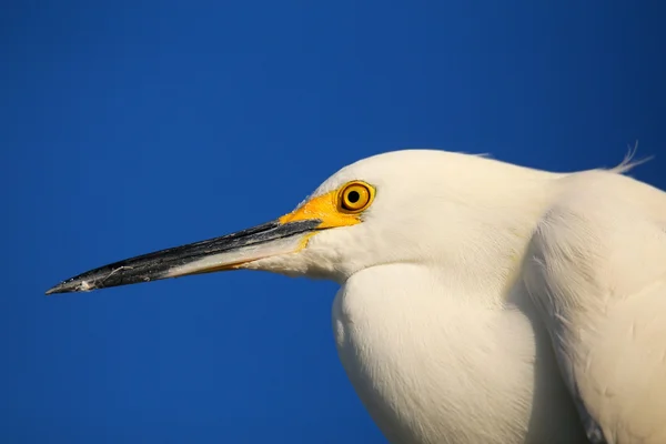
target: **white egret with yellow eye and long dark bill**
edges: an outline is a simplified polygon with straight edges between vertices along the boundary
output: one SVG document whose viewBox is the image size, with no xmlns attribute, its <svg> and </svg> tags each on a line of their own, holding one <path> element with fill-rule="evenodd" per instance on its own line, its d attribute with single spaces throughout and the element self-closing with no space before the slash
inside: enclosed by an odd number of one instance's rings
<svg viewBox="0 0 666 444">
<path fill-rule="evenodd" d="M 48 293 L 222 270 L 337 282 L 342 364 L 392 443 L 666 443 L 666 194 L 405 150 L 254 229 Z"/>
</svg>

